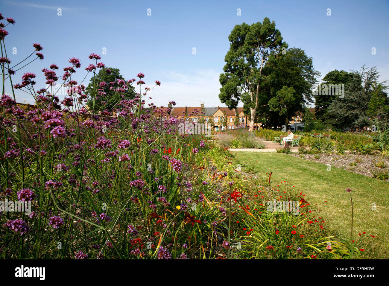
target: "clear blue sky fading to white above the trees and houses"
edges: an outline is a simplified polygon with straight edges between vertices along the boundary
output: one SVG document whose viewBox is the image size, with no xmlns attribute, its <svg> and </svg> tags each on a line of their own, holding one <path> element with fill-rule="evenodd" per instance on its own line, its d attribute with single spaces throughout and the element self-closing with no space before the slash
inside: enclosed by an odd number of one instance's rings
<svg viewBox="0 0 389 286">
<path fill-rule="evenodd" d="M 5 37 L 12 64 L 23 60 L 37 42 L 44 60 L 19 70 L 37 74 L 37 89 L 45 86 L 42 68 L 56 63 L 60 70 L 69 58 L 81 61 L 75 79 L 86 75 L 89 54 L 117 67 L 126 78 L 145 74 L 146 86 L 161 86 L 150 95 L 156 105 L 175 100 L 177 106 L 225 106 L 219 101 L 219 75 L 237 24 L 275 21 L 289 47 L 299 47 L 313 58 L 324 77 L 329 71 L 377 66 L 381 81 L 389 80 L 389 2 L 377 1 L 38 1 L 2 0 L 0 12 L 14 18 Z M 61 9 L 61 16 L 58 10 Z M 331 16 L 327 16 L 327 9 Z M 151 9 L 151 16 L 147 16 Z M 237 15 L 241 10 L 241 16 Z M 2 20 L 5 22 L 5 20 Z M 17 54 L 12 54 L 12 48 Z M 192 54 L 192 48 L 196 54 Z M 376 54 L 371 54 L 372 47 Z M 102 54 L 106 48 L 107 54 Z M 61 75 L 62 72 L 58 72 Z M 89 75 L 88 78 L 89 79 Z M 11 93 L 6 86 L 6 93 Z M 19 102 L 33 103 L 17 91 Z M 242 106 L 242 104 L 240 104 Z"/>
</svg>

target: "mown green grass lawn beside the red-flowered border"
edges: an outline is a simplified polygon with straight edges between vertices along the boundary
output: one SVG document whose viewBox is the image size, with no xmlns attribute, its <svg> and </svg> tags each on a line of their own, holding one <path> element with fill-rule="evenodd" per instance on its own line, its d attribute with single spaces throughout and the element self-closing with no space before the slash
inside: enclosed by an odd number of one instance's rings
<svg viewBox="0 0 389 286">
<path fill-rule="evenodd" d="M 352 189 L 354 205 L 354 237 L 366 232 L 375 235 L 389 250 L 389 182 L 355 174 L 302 158 L 279 153 L 237 152 L 237 159 L 260 173 L 273 172 L 273 184 L 291 182 L 302 190 L 305 199 L 317 204 L 328 225 L 345 239 L 350 239 L 351 202 L 345 190 Z M 243 165 L 243 164 L 242 164 Z M 326 202 L 327 201 L 327 202 Z M 372 209 L 375 204 L 375 210 Z"/>
</svg>

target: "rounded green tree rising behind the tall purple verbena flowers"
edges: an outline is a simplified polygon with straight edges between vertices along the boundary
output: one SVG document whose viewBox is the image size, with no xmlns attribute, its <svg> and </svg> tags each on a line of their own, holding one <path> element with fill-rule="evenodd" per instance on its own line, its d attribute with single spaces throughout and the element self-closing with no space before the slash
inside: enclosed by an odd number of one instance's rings
<svg viewBox="0 0 389 286">
<path fill-rule="evenodd" d="M 107 70 L 110 70 L 110 72 L 107 73 Z M 125 81 L 123 75 L 119 73 L 119 68 L 110 67 L 100 69 L 98 74 L 91 77 L 85 89 L 85 94 L 89 97 L 86 103 L 89 109 L 93 109 L 94 113 L 105 109 L 112 111 L 112 109 L 117 108 L 117 104 L 121 100 L 134 98 L 135 91 L 131 85 L 128 85 L 128 89 L 124 92 L 115 91 L 119 87 L 118 79 Z M 104 87 L 100 86 L 101 82 L 106 82 Z M 100 89 L 102 89 L 105 95 L 98 95 Z"/>
</svg>

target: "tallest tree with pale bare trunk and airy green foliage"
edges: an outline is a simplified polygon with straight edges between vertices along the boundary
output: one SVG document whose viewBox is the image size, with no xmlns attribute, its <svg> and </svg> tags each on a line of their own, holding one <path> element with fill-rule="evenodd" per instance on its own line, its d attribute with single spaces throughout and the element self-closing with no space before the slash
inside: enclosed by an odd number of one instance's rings
<svg viewBox="0 0 389 286">
<path fill-rule="evenodd" d="M 249 131 L 252 130 L 256 119 L 256 112 L 261 97 L 266 98 L 266 82 L 271 78 L 264 76 L 263 69 L 269 55 L 278 53 L 280 49 L 287 48 L 282 42 L 281 33 L 275 28 L 275 22 L 269 18 L 263 23 L 246 23 L 236 25 L 228 37 L 230 50 L 224 61 L 223 71 L 219 82 L 222 86 L 219 98 L 228 108 L 236 108 L 242 99 L 242 92 L 248 93 L 244 105 L 250 108 Z"/>
</svg>

